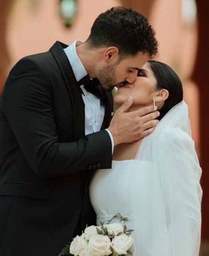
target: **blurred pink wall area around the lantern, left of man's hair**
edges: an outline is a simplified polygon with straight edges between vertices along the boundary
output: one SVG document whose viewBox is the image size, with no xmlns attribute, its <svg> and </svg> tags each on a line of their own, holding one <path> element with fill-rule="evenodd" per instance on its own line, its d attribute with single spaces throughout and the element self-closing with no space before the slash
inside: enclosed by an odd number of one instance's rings
<svg viewBox="0 0 209 256">
<path fill-rule="evenodd" d="M 78 0 L 74 25 L 66 29 L 58 14 L 58 0 L 16 1 L 8 23 L 8 47 L 11 65 L 25 55 L 47 51 L 56 40 L 70 44 L 87 39 L 92 23 L 103 11 L 119 5 L 119 0 Z M 31 9 L 32 8 L 32 9 Z"/>
</svg>

